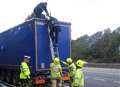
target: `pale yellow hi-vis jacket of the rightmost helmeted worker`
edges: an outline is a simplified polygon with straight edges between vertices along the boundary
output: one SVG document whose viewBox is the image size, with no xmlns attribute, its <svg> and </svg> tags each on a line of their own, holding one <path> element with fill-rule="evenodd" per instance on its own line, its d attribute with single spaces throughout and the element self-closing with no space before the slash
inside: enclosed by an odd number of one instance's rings
<svg viewBox="0 0 120 87">
<path fill-rule="evenodd" d="M 72 87 L 84 87 L 84 74 L 82 69 L 76 69 L 73 77 Z"/>
</svg>

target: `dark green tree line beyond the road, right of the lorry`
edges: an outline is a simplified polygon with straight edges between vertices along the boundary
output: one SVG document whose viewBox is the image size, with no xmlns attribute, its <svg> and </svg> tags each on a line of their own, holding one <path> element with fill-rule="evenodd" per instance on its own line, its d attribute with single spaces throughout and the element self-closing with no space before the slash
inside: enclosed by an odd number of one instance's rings
<svg viewBox="0 0 120 87">
<path fill-rule="evenodd" d="M 110 28 L 71 42 L 72 58 L 96 63 L 120 63 L 120 27 Z"/>
</svg>

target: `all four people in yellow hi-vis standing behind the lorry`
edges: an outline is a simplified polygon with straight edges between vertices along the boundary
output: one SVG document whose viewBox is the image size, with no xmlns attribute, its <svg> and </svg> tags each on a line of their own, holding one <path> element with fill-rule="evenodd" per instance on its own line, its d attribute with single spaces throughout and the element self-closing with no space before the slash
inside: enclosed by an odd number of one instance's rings
<svg viewBox="0 0 120 87">
<path fill-rule="evenodd" d="M 26 87 L 29 84 L 30 80 L 30 67 L 28 65 L 30 56 L 24 56 L 23 61 L 20 65 L 20 82 L 21 87 Z M 51 87 L 63 87 L 62 79 L 62 67 L 61 63 L 66 65 L 68 68 L 68 74 L 70 76 L 70 87 L 84 87 L 84 74 L 82 68 L 86 64 L 85 61 L 77 60 L 73 62 L 71 58 L 67 58 L 66 61 L 60 61 L 58 57 L 53 59 L 53 62 L 50 63 L 51 71 Z"/>
</svg>

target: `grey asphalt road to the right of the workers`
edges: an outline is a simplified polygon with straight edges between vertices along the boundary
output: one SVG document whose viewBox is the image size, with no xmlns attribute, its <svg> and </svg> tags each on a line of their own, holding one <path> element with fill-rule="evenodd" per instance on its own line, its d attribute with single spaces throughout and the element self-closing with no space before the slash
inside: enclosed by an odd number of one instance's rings
<svg viewBox="0 0 120 87">
<path fill-rule="evenodd" d="M 120 69 L 84 68 L 85 87 L 120 87 Z"/>
</svg>

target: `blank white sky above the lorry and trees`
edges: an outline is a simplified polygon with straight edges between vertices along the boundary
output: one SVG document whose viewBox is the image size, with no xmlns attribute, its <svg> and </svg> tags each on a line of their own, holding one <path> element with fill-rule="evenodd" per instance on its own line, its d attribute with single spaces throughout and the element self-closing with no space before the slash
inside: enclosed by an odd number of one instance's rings
<svg viewBox="0 0 120 87">
<path fill-rule="evenodd" d="M 60 21 L 70 22 L 72 39 L 120 26 L 120 0 L 0 0 L 0 32 L 24 22 L 40 2 Z"/>
</svg>

